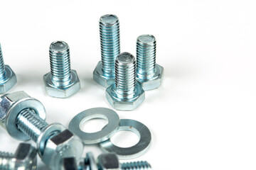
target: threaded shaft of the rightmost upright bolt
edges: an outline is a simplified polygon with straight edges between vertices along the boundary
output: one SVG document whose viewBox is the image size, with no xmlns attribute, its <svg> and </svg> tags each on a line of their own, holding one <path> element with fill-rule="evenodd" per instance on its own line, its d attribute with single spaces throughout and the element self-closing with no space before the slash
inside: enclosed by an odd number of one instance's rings
<svg viewBox="0 0 256 170">
<path fill-rule="evenodd" d="M 156 68 L 156 39 L 153 35 L 137 38 L 137 77 L 150 79 Z"/>
</svg>

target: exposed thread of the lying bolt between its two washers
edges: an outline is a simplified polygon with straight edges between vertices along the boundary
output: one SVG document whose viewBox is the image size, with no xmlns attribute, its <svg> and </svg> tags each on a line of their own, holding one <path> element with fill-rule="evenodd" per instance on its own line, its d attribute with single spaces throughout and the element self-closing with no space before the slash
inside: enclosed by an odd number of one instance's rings
<svg viewBox="0 0 256 170">
<path fill-rule="evenodd" d="M 38 136 L 48 126 L 45 120 L 41 119 L 31 108 L 21 111 L 16 118 L 16 125 L 21 132 L 25 133 L 36 142 Z"/>
</svg>

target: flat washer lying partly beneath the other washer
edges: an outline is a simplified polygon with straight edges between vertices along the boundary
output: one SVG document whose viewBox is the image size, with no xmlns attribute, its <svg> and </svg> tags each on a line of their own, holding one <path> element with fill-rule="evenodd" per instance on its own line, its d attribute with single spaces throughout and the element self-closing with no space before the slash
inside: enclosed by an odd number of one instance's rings
<svg viewBox="0 0 256 170">
<path fill-rule="evenodd" d="M 138 122 L 137 120 L 121 119 L 119 131 L 128 130 L 136 133 L 139 136 L 139 142 L 132 147 L 117 147 L 111 140 L 106 140 L 100 143 L 100 147 L 105 152 L 114 152 L 119 159 L 134 159 L 141 156 L 149 148 L 151 142 L 151 132 L 146 125 Z"/>
</svg>

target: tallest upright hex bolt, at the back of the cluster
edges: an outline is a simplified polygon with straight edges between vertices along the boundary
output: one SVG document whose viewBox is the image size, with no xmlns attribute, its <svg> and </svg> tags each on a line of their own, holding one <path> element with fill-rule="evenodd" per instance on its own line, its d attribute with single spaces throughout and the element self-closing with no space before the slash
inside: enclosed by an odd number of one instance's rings
<svg viewBox="0 0 256 170">
<path fill-rule="evenodd" d="M 114 82 L 114 60 L 120 53 L 119 19 L 107 14 L 100 17 L 101 61 L 98 62 L 93 79 L 108 87 Z"/>
</svg>

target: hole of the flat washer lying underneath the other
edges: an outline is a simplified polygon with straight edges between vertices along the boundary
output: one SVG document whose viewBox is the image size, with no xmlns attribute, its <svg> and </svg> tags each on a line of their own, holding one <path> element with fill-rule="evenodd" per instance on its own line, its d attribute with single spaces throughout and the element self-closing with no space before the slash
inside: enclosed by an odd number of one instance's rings
<svg viewBox="0 0 256 170">
<path fill-rule="evenodd" d="M 139 142 L 139 135 L 129 130 L 122 130 L 116 132 L 110 140 L 117 147 L 133 147 Z"/>
</svg>

